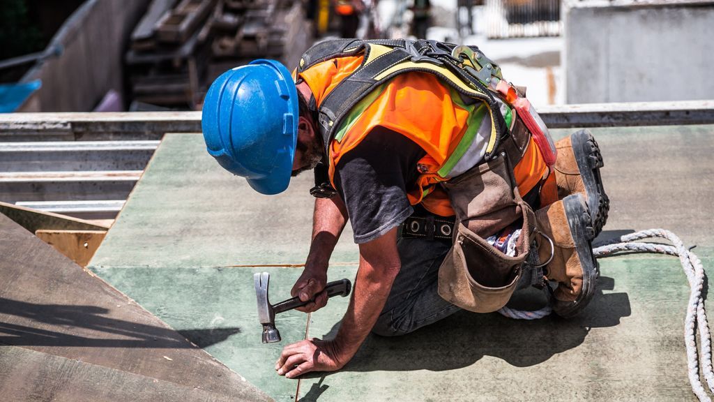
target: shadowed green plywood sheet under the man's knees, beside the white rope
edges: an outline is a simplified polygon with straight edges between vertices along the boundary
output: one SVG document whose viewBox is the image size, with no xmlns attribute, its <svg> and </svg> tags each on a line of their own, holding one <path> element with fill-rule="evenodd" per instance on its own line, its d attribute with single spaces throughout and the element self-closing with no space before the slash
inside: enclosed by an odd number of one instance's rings
<svg viewBox="0 0 714 402">
<path fill-rule="evenodd" d="M 714 259 L 704 263 L 714 275 Z M 409 335 L 371 335 L 341 371 L 303 378 L 298 400 L 696 401 L 683 341 L 689 288 L 678 259 L 609 258 L 601 269 L 578 318 L 462 311 Z M 309 335 L 336 333 L 346 305 L 331 300 L 313 313 Z"/>
</svg>

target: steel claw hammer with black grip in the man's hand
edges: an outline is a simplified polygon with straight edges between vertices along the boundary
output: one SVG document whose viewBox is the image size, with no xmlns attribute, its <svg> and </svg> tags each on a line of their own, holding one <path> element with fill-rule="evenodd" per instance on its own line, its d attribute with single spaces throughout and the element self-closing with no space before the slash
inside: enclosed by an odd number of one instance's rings
<svg viewBox="0 0 714 402">
<path fill-rule="evenodd" d="M 293 308 L 302 307 L 313 300 L 301 301 L 297 296 L 280 303 L 271 305 L 268 300 L 268 281 L 270 274 L 256 273 L 253 275 L 253 280 L 256 283 L 256 298 L 258 299 L 258 319 L 263 325 L 263 343 L 280 342 L 280 333 L 275 326 L 275 315 L 283 313 L 283 311 L 292 310 Z M 349 295 L 352 290 L 352 283 L 347 279 L 336 280 L 328 283 L 325 287 L 327 297 L 331 298 L 336 295 L 342 297 Z"/>
</svg>

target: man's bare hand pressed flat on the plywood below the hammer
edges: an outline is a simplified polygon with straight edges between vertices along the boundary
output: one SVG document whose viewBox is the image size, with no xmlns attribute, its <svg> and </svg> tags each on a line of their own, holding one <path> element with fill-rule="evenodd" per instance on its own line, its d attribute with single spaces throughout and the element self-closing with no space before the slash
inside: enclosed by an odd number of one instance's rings
<svg viewBox="0 0 714 402">
<path fill-rule="evenodd" d="M 348 362 L 354 353 L 341 356 L 342 350 L 333 340 L 311 338 L 283 348 L 276 371 L 286 378 L 296 378 L 311 371 L 336 371 Z"/>
</svg>

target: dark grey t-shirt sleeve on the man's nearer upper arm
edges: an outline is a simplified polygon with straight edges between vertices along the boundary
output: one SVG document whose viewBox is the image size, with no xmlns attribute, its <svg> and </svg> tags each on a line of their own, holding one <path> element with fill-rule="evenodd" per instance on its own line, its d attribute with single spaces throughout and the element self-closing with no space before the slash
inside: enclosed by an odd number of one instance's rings
<svg viewBox="0 0 714 402">
<path fill-rule="evenodd" d="M 412 214 L 406 192 L 416 180 L 416 162 L 425 154 L 411 139 L 376 127 L 341 158 L 335 185 L 356 243 L 384 235 Z"/>
</svg>

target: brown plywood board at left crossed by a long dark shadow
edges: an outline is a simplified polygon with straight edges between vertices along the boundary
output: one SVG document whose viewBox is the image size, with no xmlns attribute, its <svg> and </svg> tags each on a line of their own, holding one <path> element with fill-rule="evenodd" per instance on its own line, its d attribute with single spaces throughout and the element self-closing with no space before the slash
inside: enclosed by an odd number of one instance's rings
<svg viewBox="0 0 714 402">
<path fill-rule="evenodd" d="M 0 344 L 201 388 L 236 400 L 268 399 L 134 300 L 4 215 L 0 215 L 0 255 Z M 202 345 L 212 345 L 240 330 L 196 328 L 187 334 Z M 59 378 L 71 377 L 73 372 L 71 368 L 57 369 Z M 13 368 L 4 370 L 12 373 Z M 23 377 L 16 378 L 22 381 Z M 112 381 L 108 376 L 99 385 L 111 387 Z"/>
</svg>

